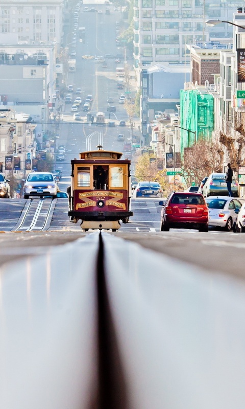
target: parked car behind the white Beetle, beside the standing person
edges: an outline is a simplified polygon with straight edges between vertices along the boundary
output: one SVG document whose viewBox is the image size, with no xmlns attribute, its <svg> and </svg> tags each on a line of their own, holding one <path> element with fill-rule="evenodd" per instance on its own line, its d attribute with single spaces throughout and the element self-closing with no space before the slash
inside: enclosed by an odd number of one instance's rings
<svg viewBox="0 0 245 409">
<path fill-rule="evenodd" d="M 211 173 L 203 187 L 203 195 L 208 196 L 228 196 L 229 192 L 226 184 L 225 173 Z M 234 197 L 239 197 L 238 181 L 233 178 L 231 185 L 232 194 Z"/>
</svg>

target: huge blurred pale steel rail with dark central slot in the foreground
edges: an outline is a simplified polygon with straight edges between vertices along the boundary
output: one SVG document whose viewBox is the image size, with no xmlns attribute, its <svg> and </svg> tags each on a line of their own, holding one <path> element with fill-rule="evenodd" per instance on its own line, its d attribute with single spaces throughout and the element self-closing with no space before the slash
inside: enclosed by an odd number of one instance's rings
<svg viewBox="0 0 245 409">
<path fill-rule="evenodd" d="M 91 233 L 0 275 L 0 407 L 242 409 L 245 285 Z"/>
</svg>

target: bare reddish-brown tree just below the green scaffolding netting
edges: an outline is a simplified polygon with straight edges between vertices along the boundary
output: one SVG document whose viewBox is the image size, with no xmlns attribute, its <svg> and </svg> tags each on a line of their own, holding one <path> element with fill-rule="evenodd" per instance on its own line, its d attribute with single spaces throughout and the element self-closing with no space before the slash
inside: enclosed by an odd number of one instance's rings
<svg viewBox="0 0 245 409">
<path fill-rule="evenodd" d="M 220 144 L 200 140 L 191 148 L 185 148 L 181 161 L 181 174 L 186 184 L 199 185 L 200 181 L 212 172 L 223 171 L 224 151 Z"/>
</svg>

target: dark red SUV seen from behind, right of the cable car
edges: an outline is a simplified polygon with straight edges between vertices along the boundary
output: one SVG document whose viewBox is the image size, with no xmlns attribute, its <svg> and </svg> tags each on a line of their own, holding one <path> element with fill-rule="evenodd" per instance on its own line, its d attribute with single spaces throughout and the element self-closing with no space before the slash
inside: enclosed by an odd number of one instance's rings
<svg viewBox="0 0 245 409">
<path fill-rule="evenodd" d="M 208 208 L 201 193 L 172 192 L 161 211 L 161 232 L 169 229 L 198 229 L 208 232 Z"/>
</svg>

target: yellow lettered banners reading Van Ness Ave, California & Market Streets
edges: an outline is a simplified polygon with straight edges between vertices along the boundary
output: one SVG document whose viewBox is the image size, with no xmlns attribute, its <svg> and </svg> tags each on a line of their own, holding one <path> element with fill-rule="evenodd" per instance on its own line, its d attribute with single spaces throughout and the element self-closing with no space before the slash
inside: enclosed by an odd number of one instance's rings
<svg viewBox="0 0 245 409">
<path fill-rule="evenodd" d="M 81 209 L 81 208 L 87 208 L 90 206 L 96 206 L 96 201 L 91 200 L 88 196 L 95 196 L 96 200 L 101 200 L 101 197 L 103 197 L 104 199 L 105 196 L 113 196 L 111 199 L 106 200 L 106 206 L 115 206 L 117 208 L 126 210 L 125 203 L 118 202 L 118 200 L 121 200 L 124 197 L 123 193 L 108 192 L 105 190 L 102 190 L 102 191 L 94 190 L 92 192 L 79 193 L 79 199 L 83 200 L 84 202 L 77 203 L 76 210 Z"/>
</svg>

